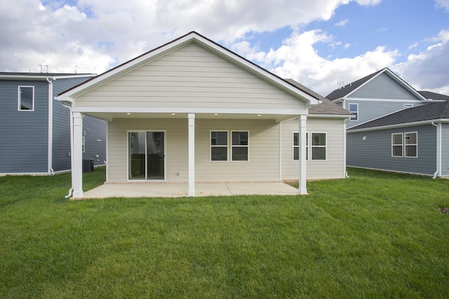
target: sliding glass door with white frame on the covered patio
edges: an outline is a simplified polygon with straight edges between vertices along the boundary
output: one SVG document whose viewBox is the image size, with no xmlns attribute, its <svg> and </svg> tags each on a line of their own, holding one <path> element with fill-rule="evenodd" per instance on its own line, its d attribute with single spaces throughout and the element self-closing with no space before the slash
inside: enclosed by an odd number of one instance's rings
<svg viewBox="0 0 449 299">
<path fill-rule="evenodd" d="M 165 179 L 165 132 L 128 132 L 128 179 Z"/>
</svg>

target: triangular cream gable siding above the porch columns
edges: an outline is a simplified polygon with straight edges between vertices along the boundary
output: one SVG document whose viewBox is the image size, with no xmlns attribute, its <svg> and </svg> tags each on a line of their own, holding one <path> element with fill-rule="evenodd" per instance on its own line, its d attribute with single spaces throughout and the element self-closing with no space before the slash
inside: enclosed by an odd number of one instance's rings
<svg viewBox="0 0 449 299">
<path fill-rule="evenodd" d="M 300 99 L 195 43 L 77 97 L 75 105 L 305 109 Z"/>
</svg>

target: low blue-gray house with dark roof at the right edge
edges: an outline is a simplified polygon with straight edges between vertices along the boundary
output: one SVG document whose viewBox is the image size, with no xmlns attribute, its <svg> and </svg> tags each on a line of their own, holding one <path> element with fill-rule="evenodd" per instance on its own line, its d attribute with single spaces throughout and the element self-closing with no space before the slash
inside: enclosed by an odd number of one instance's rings
<svg viewBox="0 0 449 299">
<path fill-rule="evenodd" d="M 347 165 L 449 177 L 449 101 L 403 109 L 351 127 Z"/>
</svg>

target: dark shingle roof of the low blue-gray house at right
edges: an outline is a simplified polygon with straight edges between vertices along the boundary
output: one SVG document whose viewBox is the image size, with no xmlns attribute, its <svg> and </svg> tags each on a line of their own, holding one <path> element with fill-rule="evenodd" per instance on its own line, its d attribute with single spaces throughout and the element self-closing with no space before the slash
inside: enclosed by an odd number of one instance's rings
<svg viewBox="0 0 449 299">
<path fill-rule="evenodd" d="M 348 131 L 442 119 L 449 120 L 449 101 L 435 102 L 414 108 L 403 109 L 387 116 L 371 120 L 368 123 L 356 125 L 349 128 Z"/>
</svg>

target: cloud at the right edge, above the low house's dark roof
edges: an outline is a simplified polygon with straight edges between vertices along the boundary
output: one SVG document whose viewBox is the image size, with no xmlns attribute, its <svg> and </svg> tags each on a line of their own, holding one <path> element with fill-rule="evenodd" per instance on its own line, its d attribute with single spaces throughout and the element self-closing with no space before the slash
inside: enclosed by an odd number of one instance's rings
<svg viewBox="0 0 449 299">
<path fill-rule="evenodd" d="M 417 90 L 449 95 L 449 30 L 442 30 L 427 41 L 435 43 L 426 50 L 408 56 L 392 69 Z"/>
</svg>

